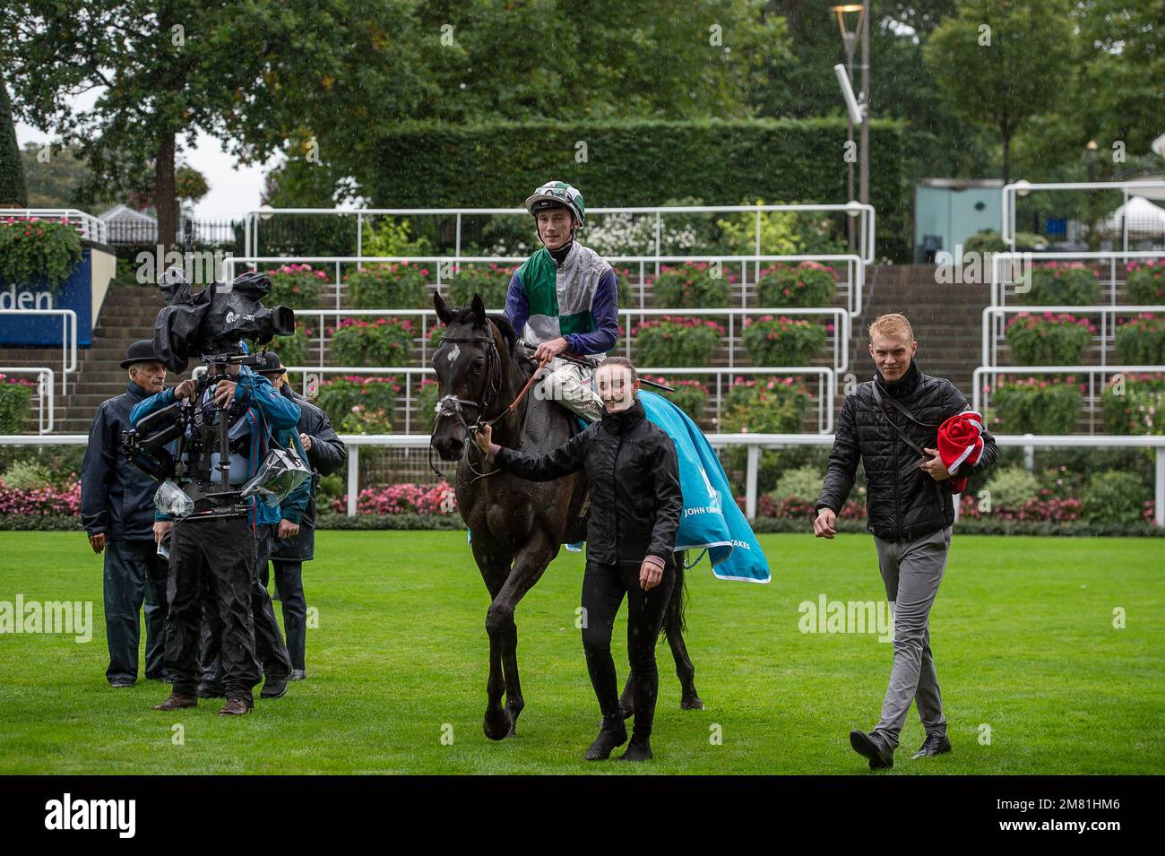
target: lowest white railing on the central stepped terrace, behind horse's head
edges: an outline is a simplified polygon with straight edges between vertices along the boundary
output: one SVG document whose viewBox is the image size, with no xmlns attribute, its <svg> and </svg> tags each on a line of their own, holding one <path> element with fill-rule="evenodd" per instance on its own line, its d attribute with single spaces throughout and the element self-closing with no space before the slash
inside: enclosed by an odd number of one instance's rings
<svg viewBox="0 0 1165 856">
<path fill-rule="evenodd" d="M 375 368 L 366 367 L 354 367 L 354 366 L 325 366 L 323 368 L 318 366 L 288 366 L 285 367 L 288 374 L 302 375 L 301 380 L 301 391 L 305 397 L 310 397 L 315 394 L 315 390 L 319 382 L 325 375 L 436 375 L 430 367 L 421 366 L 401 366 L 401 367 L 383 367 L 377 366 Z M 195 369 L 195 375 L 205 372 L 205 367 L 199 366 Z M 636 367 L 636 372 L 644 376 L 658 376 L 658 375 L 713 375 L 716 379 L 715 395 L 709 396 L 709 398 L 715 401 L 715 419 L 716 424 L 720 424 L 720 416 L 723 408 L 725 398 L 727 397 L 728 389 L 732 388 L 733 376 L 743 375 L 761 375 L 761 376 L 778 376 L 778 375 L 816 375 L 818 377 L 818 395 L 817 395 L 817 424 L 818 431 L 821 433 L 828 433 L 833 430 L 833 411 L 834 411 L 834 399 L 836 395 L 838 387 L 838 375 L 836 373 L 828 368 L 827 366 L 798 366 L 795 368 L 700 368 L 700 367 L 665 367 L 665 368 L 640 368 Z M 727 383 L 725 379 L 729 379 Z M 709 402 L 711 403 L 711 402 Z M 412 387 L 409 383 L 404 384 L 404 433 L 408 434 L 411 430 L 411 415 L 412 415 Z M 719 436 L 719 434 L 714 434 Z"/>
</svg>

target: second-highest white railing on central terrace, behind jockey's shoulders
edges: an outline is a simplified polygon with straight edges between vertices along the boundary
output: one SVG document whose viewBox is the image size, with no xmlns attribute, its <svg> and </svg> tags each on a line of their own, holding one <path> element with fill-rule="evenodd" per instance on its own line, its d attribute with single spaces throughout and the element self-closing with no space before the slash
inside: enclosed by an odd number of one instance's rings
<svg viewBox="0 0 1165 856">
<path fill-rule="evenodd" d="M 659 255 L 659 256 L 605 256 L 612 266 L 637 264 L 638 266 L 638 302 L 642 310 L 647 300 L 647 266 L 655 264 L 658 274 L 661 264 L 682 264 L 684 262 L 707 262 L 720 263 L 721 270 L 727 267 L 739 264 L 741 270 L 740 302 L 746 309 L 748 303 L 749 285 L 755 288 L 760 278 L 761 264 L 765 263 L 800 263 L 829 262 L 845 263 L 846 277 L 836 283 L 838 291 L 845 297 L 846 309 L 850 318 L 856 318 L 862 313 L 862 292 L 866 286 L 866 266 L 862 260 L 852 254 L 840 255 Z M 334 266 L 336 280 L 331 283 L 334 291 L 336 309 L 340 309 L 340 297 L 344 291 L 341 264 L 429 264 L 435 268 L 436 276 L 432 285 L 440 291 L 442 285 L 456 278 L 456 271 L 460 264 L 513 264 L 518 266 L 528 256 L 228 256 L 223 259 L 219 278 L 230 282 L 235 276 L 235 267 L 246 264 L 252 270 L 259 264 L 326 264 Z M 748 268 L 753 266 L 754 278 L 749 281 Z M 655 275 L 651 274 L 651 275 Z M 310 310 L 308 310 L 310 311 Z M 682 310 L 680 310 L 682 311 Z M 675 313 L 675 312 L 673 312 Z"/>
</svg>

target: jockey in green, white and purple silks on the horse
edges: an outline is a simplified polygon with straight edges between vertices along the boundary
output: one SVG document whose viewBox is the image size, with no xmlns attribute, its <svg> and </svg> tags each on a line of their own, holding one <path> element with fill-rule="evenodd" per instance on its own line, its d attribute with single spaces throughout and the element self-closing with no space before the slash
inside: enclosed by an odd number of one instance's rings
<svg viewBox="0 0 1165 856">
<path fill-rule="evenodd" d="M 588 422 L 602 417 L 591 387 L 593 368 L 559 354 L 606 354 L 619 338 L 615 271 L 598 253 L 574 240 L 586 225 L 582 194 L 565 182 L 548 182 L 525 200 L 543 248 L 514 273 L 506 318 L 546 365 L 535 394 L 551 398 Z"/>
</svg>

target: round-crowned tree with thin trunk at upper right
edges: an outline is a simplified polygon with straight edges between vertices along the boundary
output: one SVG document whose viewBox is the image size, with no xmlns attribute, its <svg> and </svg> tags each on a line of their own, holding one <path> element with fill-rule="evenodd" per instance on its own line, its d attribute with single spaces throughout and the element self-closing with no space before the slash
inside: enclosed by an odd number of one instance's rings
<svg viewBox="0 0 1165 856">
<path fill-rule="evenodd" d="M 1067 0 L 965 0 L 923 56 L 955 113 L 998 132 L 1010 182 L 1016 133 L 1055 106 L 1075 52 Z"/>
</svg>

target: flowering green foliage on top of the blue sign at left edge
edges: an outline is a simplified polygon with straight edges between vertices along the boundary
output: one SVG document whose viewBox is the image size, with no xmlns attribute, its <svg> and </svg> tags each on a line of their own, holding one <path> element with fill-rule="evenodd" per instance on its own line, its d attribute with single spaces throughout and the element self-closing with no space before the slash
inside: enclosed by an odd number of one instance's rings
<svg viewBox="0 0 1165 856">
<path fill-rule="evenodd" d="M 0 282 L 45 283 L 56 291 L 80 261 L 80 235 L 68 222 L 0 218 Z"/>
</svg>

